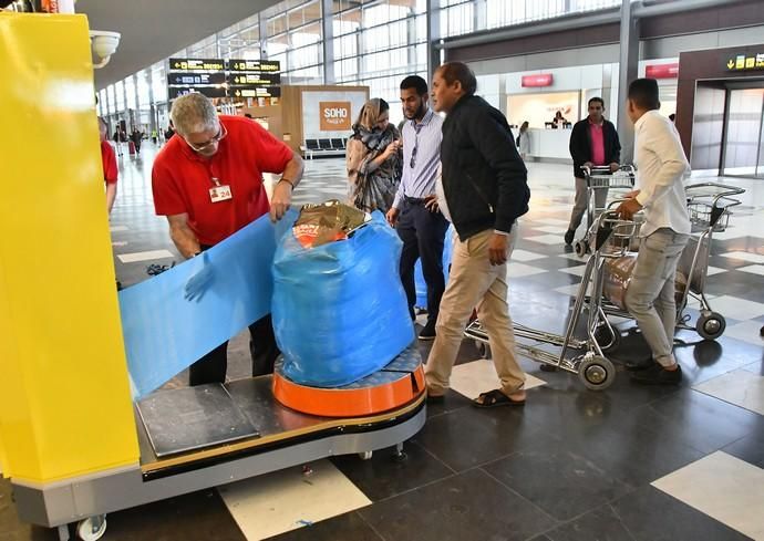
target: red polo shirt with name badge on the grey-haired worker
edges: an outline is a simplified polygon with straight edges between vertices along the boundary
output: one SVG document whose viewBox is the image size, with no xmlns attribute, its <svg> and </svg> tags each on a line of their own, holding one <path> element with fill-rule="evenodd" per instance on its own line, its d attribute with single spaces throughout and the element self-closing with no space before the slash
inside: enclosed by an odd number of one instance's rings
<svg viewBox="0 0 764 541">
<path fill-rule="evenodd" d="M 262 173 L 283 173 L 291 149 L 246 117 L 220 115 L 228 135 L 209 159 L 173 137 L 154 160 L 152 189 L 159 216 L 188 214 L 202 245 L 216 245 L 270 209 Z M 211 202 L 209 189 L 230 186 L 231 199 Z"/>
</svg>

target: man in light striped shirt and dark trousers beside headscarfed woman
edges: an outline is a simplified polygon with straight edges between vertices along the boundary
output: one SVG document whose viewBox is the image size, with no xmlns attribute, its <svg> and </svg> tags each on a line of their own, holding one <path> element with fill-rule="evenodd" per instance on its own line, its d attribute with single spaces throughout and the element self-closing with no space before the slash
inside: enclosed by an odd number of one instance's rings
<svg viewBox="0 0 764 541">
<path fill-rule="evenodd" d="M 401 281 L 414 319 L 416 288 L 414 266 L 422 260 L 422 274 L 427 284 L 427 323 L 420 340 L 435 339 L 435 322 L 445 290 L 443 277 L 443 242 L 448 221 L 437 209 L 435 183 L 441 163 L 443 118 L 427 107 L 427 83 L 419 75 L 401 82 L 403 104 L 403 176 L 395 194 L 388 221 L 403 241 Z"/>
</svg>

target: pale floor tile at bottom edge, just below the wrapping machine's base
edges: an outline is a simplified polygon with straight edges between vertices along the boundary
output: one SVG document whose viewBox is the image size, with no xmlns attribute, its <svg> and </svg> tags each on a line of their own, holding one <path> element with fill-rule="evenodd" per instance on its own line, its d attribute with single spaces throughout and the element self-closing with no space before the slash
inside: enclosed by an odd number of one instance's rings
<svg viewBox="0 0 764 541">
<path fill-rule="evenodd" d="M 369 506 L 366 498 L 329 460 L 219 487 L 248 541 L 266 539 Z"/>
</svg>

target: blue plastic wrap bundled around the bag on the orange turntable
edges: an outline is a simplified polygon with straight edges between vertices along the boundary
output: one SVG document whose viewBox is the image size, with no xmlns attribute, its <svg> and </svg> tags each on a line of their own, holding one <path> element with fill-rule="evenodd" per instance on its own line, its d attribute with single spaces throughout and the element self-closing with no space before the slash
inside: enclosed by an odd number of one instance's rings
<svg viewBox="0 0 764 541">
<path fill-rule="evenodd" d="M 414 341 L 401 248 L 379 211 L 348 240 L 303 248 L 283 236 L 273 258 L 271 316 L 287 377 L 314 387 L 348 385 Z"/>
</svg>

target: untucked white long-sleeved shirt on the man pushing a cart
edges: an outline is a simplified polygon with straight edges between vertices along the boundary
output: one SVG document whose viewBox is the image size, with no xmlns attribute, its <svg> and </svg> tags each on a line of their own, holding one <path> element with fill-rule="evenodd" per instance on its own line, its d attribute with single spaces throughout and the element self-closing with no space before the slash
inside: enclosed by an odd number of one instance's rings
<svg viewBox="0 0 764 541">
<path fill-rule="evenodd" d="M 640 189 L 637 201 L 644 207 L 640 237 L 665 227 L 689 233 L 684 178 L 690 175 L 690 164 L 673 123 L 658 111 L 644 113 L 634 124 L 634 164 Z"/>
</svg>

